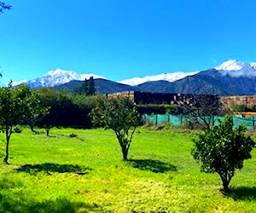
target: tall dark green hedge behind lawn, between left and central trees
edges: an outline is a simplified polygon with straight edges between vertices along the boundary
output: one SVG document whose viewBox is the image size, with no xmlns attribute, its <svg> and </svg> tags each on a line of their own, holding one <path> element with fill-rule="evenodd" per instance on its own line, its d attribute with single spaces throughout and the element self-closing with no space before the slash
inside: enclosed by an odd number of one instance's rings
<svg viewBox="0 0 256 213">
<path fill-rule="evenodd" d="M 38 126 L 69 126 L 91 128 L 91 109 L 95 106 L 96 95 L 73 95 L 55 89 L 39 89 L 40 102 L 49 107 L 49 113 L 37 122 Z"/>
</svg>

